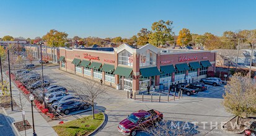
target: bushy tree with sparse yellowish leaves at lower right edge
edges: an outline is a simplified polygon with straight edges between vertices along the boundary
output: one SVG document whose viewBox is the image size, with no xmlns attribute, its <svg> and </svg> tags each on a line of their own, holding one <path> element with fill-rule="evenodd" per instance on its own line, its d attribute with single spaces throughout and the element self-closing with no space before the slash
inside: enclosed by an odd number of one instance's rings
<svg viewBox="0 0 256 136">
<path fill-rule="evenodd" d="M 239 117 L 256 113 L 256 86 L 247 76 L 234 74 L 225 86 L 223 106 L 227 112 Z"/>
</svg>

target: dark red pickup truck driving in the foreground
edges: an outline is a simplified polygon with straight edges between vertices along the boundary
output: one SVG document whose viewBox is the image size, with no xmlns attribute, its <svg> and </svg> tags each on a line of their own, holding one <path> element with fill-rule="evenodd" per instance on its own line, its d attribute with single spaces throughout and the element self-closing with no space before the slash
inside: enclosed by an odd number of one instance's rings
<svg viewBox="0 0 256 136">
<path fill-rule="evenodd" d="M 136 113 L 130 114 L 126 119 L 118 125 L 118 131 L 123 135 L 136 135 L 137 130 L 141 127 L 148 126 L 154 121 L 161 121 L 163 114 L 159 111 L 151 109 L 144 111 L 143 109 Z"/>
</svg>

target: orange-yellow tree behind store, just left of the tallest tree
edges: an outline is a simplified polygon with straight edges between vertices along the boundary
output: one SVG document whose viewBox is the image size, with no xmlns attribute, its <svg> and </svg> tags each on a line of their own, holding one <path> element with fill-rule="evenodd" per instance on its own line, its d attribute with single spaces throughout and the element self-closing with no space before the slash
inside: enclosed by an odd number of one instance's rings
<svg viewBox="0 0 256 136">
<path fill-rule="evenodd" d="M 149 40 L 149 34 L 150 34 L 150 31 L 147 28 L 142 28 L 141 30 L 139 30 L 139 33 L 137 33 L 138 35 L 137 45 L 146 45 Z"/>
</svg>

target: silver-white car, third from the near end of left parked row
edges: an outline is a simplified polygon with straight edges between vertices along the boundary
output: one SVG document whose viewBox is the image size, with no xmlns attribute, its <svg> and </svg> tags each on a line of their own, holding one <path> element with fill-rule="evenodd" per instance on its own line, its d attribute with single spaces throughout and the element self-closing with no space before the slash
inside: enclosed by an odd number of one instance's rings
<svg viewBox="0 0 256 136">
<path fill-rule="evenodd" d="M 45 95 L 45 103 L 54 103 L 55 101 L 58 101 L 64 96 L 68 96 L 68 95 L 69 95 L 68 93 L 64 93 L 62 91 L 47 93 Z"/>
</svg>

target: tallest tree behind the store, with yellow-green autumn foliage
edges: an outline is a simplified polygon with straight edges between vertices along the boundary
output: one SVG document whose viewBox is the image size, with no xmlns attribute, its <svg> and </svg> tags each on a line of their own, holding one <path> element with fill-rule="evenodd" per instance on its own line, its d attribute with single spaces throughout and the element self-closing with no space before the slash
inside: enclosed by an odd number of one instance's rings
<svg viewBox="0 0 256 136">
<path fill-rule="evenodd" d="M 166 41 L 171 41 L 174 39 L 173 35 L 174 32 L 172 32 L 172 21 L 167 20 L 166 22 L 164 20 L 159 20 L 158 22 L 152 23 L 152 32 L 149 34 L 149 43 L 151 43 L 154 46 L 159 46 Z"/>
</svg>

